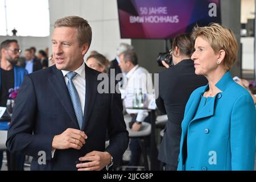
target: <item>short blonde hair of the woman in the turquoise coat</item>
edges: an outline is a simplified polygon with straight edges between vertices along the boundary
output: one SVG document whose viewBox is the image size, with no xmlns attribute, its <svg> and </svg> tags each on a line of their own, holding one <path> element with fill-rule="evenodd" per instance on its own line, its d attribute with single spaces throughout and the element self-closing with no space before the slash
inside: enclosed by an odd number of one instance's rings
<svg viewBox="0 0 256 182">
<path fill-rule="evenodd" d="M 237 59 L 238 44 L 234 33 L 229 28 L 218 23 L 211 23 L 207 27 L 195 27 L 192 32 L 192 39 L 198 36 L 207 40 L 214 52 L 221 49 L 225 51 L 224 66 L 229 71 Z"/>
</svg>

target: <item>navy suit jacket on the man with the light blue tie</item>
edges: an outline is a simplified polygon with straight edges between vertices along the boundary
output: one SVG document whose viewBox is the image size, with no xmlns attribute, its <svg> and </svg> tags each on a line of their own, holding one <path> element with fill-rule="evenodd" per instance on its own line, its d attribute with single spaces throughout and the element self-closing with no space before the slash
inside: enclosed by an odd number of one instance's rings
<svg viewBox="0 0 256 182">
<path fill-rule="evenodd" d="M 7 148 L 33 156 L 32 170 L 77 170 L 79 157 L 94 150 L 108 151 L 117 164 L 129 143 L 121 96 L 97 92 L 99 73 L 85 65 L 86 94 L 81 130 L 88 139 L 81 150 L 56 150 L 54 157 L 51 156 L 55 135 L 68 128 L 79 129 L 63 73 L 55 65 L 24 78 L 15 102 Z M 107 129 L 110 145 L 105 150 Z M 38 159 L 42 161 L 40 151 L 46 152 L 46 164 L 38 163 Z"/>
</svg>

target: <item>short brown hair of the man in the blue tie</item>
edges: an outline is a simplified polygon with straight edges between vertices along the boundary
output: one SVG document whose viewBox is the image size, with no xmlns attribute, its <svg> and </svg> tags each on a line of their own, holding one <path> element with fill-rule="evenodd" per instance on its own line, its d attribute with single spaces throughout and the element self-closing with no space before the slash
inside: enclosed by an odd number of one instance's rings
<svg viewBox="0 0 256 182">
<path fill-rule="evenodd" d="M 90 47 L 90 43 L 92 42 L 92 28 L 84 18 L 79 16 L 66 16 L 56 20 L 54 28 L 56 27 L 76 28 L 79 46 L 81 47 L 85 43 L 88 43 L 88 48 Z"/>
</svg>

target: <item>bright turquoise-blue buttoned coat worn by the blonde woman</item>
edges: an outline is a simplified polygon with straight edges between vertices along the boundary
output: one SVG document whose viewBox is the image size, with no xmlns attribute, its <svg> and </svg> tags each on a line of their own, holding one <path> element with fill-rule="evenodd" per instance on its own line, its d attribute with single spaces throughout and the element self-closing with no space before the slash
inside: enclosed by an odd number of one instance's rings
<svg viewBox="0 0 256 182">
<path fill-rule="evenodd" d="M 253 99 L 245 88 L 233 81 L 230 72 L 216 86 L 222 92 L 196 117 L 200 98 L 209 85 L 196 89 L 187 102 L 177 170 L 254 170 L 256 111 Z"/>
</svg>

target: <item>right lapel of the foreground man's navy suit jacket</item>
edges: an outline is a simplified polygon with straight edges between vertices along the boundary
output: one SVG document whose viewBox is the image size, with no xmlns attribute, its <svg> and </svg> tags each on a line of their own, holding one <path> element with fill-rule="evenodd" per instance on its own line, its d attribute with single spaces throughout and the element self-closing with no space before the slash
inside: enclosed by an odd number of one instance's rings
<svg viewBox="0 0 256 182">
<path fill-rule="evenodd" d="M 96 100 L 97 86 L 97 75 L 85 64 L 85 106 L 82 130 L 88 125 L 90 114 L 92 113 L 94 102 Z"/>
</svg>

